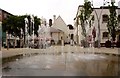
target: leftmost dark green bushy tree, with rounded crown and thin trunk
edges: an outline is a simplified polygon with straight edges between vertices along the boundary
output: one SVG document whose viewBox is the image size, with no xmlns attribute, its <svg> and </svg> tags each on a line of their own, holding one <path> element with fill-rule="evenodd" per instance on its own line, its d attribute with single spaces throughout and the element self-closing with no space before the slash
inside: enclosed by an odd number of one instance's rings
<svg viewBox="0 0 120 78">
<path fill-rule="evenodd" d="M 20 34 L 20 27 L 19 27 L 19 17 L 18 16 L 9 16 L 7 19 L 3 21 L 3 31 L 7 32 L 6 35 L 12 35 L 14 36 L 14 48 L 16 44 L 16 37 Z M 7 38 L 6 38 L 7 39 Z M 7 39 L 7 46 L 9 47 L 9 40 Z"/>
</svg>

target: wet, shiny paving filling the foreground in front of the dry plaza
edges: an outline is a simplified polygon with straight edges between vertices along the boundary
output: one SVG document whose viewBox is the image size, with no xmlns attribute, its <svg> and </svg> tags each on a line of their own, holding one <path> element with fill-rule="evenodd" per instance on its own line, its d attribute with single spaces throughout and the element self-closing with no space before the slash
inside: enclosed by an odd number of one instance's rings
<svg viewBox="0 0 120 78">
<path fill-rule="evenodd" d="M 118 76 L 118 57 L 96 54 L 26 54 L 3 65 L 9 76 Z"/>
</svg>

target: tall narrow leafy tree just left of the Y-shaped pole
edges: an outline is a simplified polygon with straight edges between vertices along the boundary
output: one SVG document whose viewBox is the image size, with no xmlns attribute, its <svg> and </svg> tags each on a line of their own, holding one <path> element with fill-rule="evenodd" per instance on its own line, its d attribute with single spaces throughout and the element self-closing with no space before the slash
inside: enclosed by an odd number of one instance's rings
<svg viewBox="0 0 120 78">
<path fill-rule="evenodd" d="M 89 26 L 91 26 L 91 20 L 93 20 L 93 19 L 90 19 L 91 13 L 93 12 L 91 2 L 85 1 L 83 8 L 80 12 L 81 13 L 79 15 L 79 18 L 80 18 L 80 23 L 81 23 L 81 28 L 82 28 L 81 34 L 85 37 L 85 43 L 86 43 L 86 41 L 87 41 L 86 40 L 87 39 L 86 24 L 89 21 Z"/>
</svg>

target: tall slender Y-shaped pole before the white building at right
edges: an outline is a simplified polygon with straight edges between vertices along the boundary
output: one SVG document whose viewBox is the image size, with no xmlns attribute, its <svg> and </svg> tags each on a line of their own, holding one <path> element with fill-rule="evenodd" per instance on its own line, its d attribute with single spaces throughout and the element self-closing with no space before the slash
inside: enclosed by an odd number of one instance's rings
<svg viewBox="0 0 120 78">
<path fill-rule="evenodd" d="M 113 1 L 113 0 L 112 0 Z M 103 2 L 103 6 L 106 5 L 106 3 L 109 3 L 108 1 L 105 1 Z M 92 6 L 93 6 L 93 1 L 92 1 Z M 94 8 L 94 6 L 93 6 Z M 103 7 L 102 7 L 102 10 L 100 12 L 100 15 L 98 15 L 97 11 L 94 9 L 95 11 L 95 14 L 96 14 L 96 17 L 97 17 L 97 21 L 98 21 L 98 48 L 100 48 L 100 42 L 101 42 L 101 36 L 100 36 L 100 19 L 101 19 L 101 15 L 102 15 L 102 12 L 103 12 Z"/>
</svg>

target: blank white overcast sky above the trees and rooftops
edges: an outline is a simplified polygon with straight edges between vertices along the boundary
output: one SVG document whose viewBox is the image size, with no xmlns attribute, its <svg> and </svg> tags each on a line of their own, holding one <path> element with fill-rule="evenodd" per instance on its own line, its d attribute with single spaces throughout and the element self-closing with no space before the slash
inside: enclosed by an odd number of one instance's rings
<svg viewBox="0 0 120 78">
<path fill-rule="evenodd" d="M 110 0 L 106 0 L 110 1 Z M 116 0 L 116 3 L 120 0 Z M 73 25 L 73 19 L 79 5 L 84 0 L 0 0 L 0 8 L 14 15 L 34 14 L 47 21 L 53 15 L 61 16 L 66 24 Z M 93 0 L 94 6 L 103 5 L 103 0 Z"/>
</svg>

